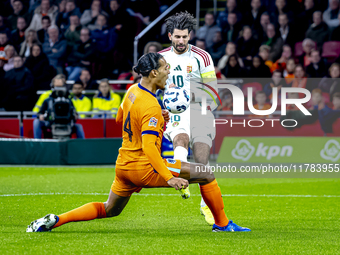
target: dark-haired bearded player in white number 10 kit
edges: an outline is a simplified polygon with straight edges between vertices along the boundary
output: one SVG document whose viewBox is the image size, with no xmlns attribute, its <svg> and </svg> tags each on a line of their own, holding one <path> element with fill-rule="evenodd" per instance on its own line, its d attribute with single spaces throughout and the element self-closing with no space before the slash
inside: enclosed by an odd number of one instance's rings
<svg viewBox="0 0 340 255">
<path fill-rule="evenodd" d="M 177 13 L 166 20 L 166 28 L 172 46 L 159 53 L 169 65 L 165 92 L 173 86 L 190 91 L 190 80 L 216 80 L 215 68 L 211 56 L 206 51 L 189 44 L 190 32 L 195 25 L 195 18 L 188 12 Z M 191 93 L 190 93 L 191 94 Z M 193 95 L 194 96 L 194 95 Z M 188 147 L 193 149 L 195 162 L 209 164 L 210 148 L 215 138 L 215 128 L 207 123 L 213 123 L 213 114 L 207 110 L 207 115 L 200 115 L 200 98 L 196 98 L 190 110 L 181 114 L 171 114 L 164 136 L 172 141 L 174 159 L 187 162 Z M 196 113 L 199 118 L 191 118 Z M 199 113 L 199 114 L 197 114 Z M 197 120 L 197 122 L 196 122 Z M 203 198 L 201 199 L 201 214 L 209 225 L 214 224 L 214 217 Z"/>
</svg>

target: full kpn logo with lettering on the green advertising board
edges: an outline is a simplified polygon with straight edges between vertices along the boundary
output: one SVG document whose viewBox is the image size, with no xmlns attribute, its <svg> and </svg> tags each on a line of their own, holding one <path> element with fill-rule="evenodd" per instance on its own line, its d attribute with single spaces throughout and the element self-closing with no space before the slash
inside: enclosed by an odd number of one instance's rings
<svg viewBox="0 0 340 255">
<path fill-rule="evenodd" d="M 231 155 L 235 159 L 248 161 L 253 155 L 255 157 L 264 157 L 270 160 L 274 157 L 290 157 L 293 154 L 293 147 L 290 145 L 268 146 L 264 143 L 259 143 L 255 148 L 248 140 L 241 139 L 237 142 L 235 148 L 231 151 Z"/>
</svg>

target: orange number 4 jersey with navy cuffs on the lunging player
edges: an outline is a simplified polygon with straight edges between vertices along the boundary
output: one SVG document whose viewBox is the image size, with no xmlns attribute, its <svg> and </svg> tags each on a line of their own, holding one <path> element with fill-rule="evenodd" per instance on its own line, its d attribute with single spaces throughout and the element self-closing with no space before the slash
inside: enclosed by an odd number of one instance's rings
<svg viewBox="0 0 340 255">
<path fill-rule="evenodd" d="M 156 95 L 140 84 L 132 85 L 121 104 L 117 122 L 123 124 L 123 144 L 119 149 L 117 167 L 140 170 L 150 167 L 150 160 L 143 151 L 142 136 L 157 136 L 156 147 L 161 155 L 164 119 Z"/>
</svg>

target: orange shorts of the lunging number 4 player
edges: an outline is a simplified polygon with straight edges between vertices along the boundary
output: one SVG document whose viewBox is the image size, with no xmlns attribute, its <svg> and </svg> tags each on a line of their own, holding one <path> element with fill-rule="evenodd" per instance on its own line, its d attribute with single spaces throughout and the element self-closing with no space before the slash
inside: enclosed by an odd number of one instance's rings
<svg viewBox="0 0 340 255">
<path fill-rule="evenodd" d="M 173 176 L 178 177 L 181 172 L 181 161 L 163 159 Z M 151 166 L 144 169 L 127 170 L 116 167 L 116 176 L 111 190 L 118 196 L 129 197 L 132 193 L 139 193 L 142 188 L 169 187 L 168 183 Z"/>
</svg>

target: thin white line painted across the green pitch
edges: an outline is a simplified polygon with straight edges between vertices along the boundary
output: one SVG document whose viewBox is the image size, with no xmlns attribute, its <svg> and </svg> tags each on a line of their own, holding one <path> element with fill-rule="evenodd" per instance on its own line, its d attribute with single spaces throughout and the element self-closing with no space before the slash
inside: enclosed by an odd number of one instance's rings
<svg viewBox="0 0 340 255">
<path fill-rule="evenodd" d="M 23 193 L 23 194 L 0 194 L 0 197 L 21 197 L 21 196 L 54 196 L 54 195 L 80 195 L 80 196 L 108 196 L 108 193 Z M 134 196 L 179 196 L 179 194 L 134 194 Z M 191 194 L 191 196 L 201 196 L 200 194 Z M 339 198 L 340 195 L 277 195 L 277 194 L 222 194 L 224 197 L 316 197 L 316 198 Z"/>
</svg>

